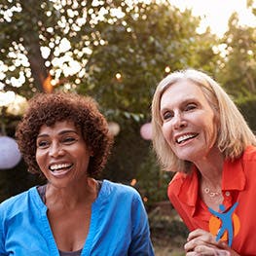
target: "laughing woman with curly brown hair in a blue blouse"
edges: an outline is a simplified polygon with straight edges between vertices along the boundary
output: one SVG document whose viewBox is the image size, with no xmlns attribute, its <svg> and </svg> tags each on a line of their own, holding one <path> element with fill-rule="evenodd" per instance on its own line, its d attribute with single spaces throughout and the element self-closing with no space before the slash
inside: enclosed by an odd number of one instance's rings
<svg viewBox="0 0 256 256">
<path fill-rule="evenodd" d="M 139 194 L 94 179 L 112 136 L 91 97 L 37 94 L 16 135 L 47 184 L 1 203 L 0 255 L 154 255 Z"/>
</svg>

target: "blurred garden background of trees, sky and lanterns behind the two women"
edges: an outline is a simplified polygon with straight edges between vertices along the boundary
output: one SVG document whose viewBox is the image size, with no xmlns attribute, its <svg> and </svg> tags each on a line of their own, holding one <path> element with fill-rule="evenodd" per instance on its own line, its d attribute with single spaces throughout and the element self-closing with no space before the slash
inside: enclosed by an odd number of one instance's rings
<svg viewBox="0 0 256 256">
<path fill-rule="evenodd" d="M 256 1 L 0 0 L 0 201 L 41 184 L 15 129 L 38 91 L 94 97 L 115 135 L 100 178 L 135 187 L 156 255 L 184 255 L 187 229 L 167 201 L 173 173 L 157 164 L 150 107 L 170 72 L 207 72 L 256 130 Z"/>
</svg>

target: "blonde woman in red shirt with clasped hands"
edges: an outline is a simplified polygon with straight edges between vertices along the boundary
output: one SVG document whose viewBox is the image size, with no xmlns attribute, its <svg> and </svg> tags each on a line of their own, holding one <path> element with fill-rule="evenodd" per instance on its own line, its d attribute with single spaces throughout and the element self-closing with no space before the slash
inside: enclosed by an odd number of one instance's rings
<svg viewBox="0 0 256 256">
<path fill-rule="evenodd" d="M 201 71 L 174 72 L 155 91 L 152 125 L 160 164 L 177 172 L 168 197 L 191 231 L 187 255 L 255 255 L 256 219 L 244 209 L 255 204 L 256 138 L 230 96 Z M 211 212 L 237 202 L 228 246 Z"/>
</svg>

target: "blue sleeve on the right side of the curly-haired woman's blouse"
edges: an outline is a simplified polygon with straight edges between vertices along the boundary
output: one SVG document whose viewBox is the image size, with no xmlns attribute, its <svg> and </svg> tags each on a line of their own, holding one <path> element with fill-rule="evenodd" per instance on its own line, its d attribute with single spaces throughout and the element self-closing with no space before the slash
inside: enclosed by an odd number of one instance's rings
<svg viewBox="0 0 256 256">
<path fill-rule="evenodd" d="M 144 204 L 138 194 L 132 201 L 131 219 L 132 238 L 128 255 L 155 255 L 150 238 L 148 216 Z"/>
</svg>

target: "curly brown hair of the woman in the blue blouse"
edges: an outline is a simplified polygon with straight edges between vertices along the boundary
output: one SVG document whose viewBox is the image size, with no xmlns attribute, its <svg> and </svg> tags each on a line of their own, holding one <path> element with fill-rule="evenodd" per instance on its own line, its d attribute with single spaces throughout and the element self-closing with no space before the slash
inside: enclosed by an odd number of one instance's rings
<svg viewBox="0 0 256 256">
<path fill-rule="evenodd" d="M 42 176 L 35 157 L 39 129 L 43 125 L 52 127 L 55 122 L 61 121 L 74 122 L 75 127 L 81 129 L 86 144 L 91 147 L 93 157 L 88 167 L 89 176 L 95 176 L 102 170 L 106 165 L 113 137 L 94 99 L 76 93 L 38 93 L 28 103 L 29 107 L 18 124 L 16 137 L 29 172 Z"/>
</svg>

